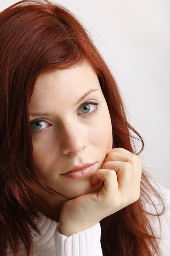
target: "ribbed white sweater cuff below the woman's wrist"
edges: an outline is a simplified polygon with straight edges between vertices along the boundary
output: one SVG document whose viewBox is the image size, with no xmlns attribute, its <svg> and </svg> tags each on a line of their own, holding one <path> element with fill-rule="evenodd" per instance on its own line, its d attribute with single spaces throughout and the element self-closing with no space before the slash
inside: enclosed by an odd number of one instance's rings
<svg viewBox="0 0 170 256">
<path fill-rule="evenodd" d="M 54 241 L 57 256 L 102 256 L 100 243 L 101 227 L 96 225 L 71 236 L 64 236 L 55 230 Z"/>
</svg>

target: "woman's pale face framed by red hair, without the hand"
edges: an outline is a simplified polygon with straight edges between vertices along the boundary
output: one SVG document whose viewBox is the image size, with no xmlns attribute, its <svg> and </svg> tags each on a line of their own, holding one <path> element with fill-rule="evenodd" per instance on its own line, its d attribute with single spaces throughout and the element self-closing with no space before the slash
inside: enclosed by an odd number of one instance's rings
<svg viewBox="0 0 170 256">
<path fill-rule="evenodd" d="M 94 91 L 79 101 L 89 90 Z M 91 65 L 39 76 L 29 115 L 38 176 L 72 199 L 94 192 L 98 186 L 91 185 L 94 174 L 80 179 L 61 175 L 83 163 L 95 163 L 96 172 L 105 160 L 106 149 L 112 148 L 108 106 Z"/>
</svg>

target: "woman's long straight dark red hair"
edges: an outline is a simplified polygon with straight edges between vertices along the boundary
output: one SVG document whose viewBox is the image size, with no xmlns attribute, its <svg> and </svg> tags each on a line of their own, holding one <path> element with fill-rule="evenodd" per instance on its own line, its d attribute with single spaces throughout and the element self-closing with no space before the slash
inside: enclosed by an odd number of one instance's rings
<svg viewBox="0 0 170 256">
<path fill-rule="evenodd" d="M 127 122 L 119 88 L 99 51 L 79 20 L 66 8 L 48 0 L 23 0 L 0 12 L 0 255 L 11 248 L 17 256 L 19 241 L 32 248 L 31 229 L 40 234 L 34 208 L 39 196 L 34 182 L 53 193 L 35 174 L 28 105 L 37 77 L 51 70 L 68 69 L 89 61 L 94 68 L 108 104 L 113 130 L 113 148 L 122 147 L 139 155 L 144 149 L 140 134 Z M 130 134 L 133 131 L 138 137 Z M 131 138 L 140 140 L 141 150 Z M 151 214 L 142 198 L 151 193 L 165 206 L 142 169 L 138 201 L 100 221 L 104 256 L 161 255 Z M 60 194 L 61 195 L 61 194 Z M 156 207 L 155 207 L 156 209 Z M 159 218 L 160 224 L 160 218 Z M 161 227 L 161 225 L 160 225 Z"/>
</svg>

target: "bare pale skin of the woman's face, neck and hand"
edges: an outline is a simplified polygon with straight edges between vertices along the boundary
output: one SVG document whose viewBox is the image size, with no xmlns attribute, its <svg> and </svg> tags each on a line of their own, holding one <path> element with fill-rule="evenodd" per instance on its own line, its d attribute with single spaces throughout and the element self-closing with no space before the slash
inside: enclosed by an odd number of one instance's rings
<svg viewBox="0 0 170 256">
<path fill-rule="evenodd" d="M 96 91 L 75 105 L 90 89 Z M 87 115 L 87 110 L 84 111 L 82 104 L 88 100 L 100 102 L 96 113 Z M 85 106 L 89 112 L 96 108 L 91 104 Z M 112 149 L 108 106 L 90 65 L 39 77 L 29 105 L 30 115 L 32 112 L 51 113 L 41 116 L 43 131 L 32 134 L 34 163 L 41 170 L 38 175 L 53 189 L 71 198 L 52 198 L 39 188 L 49 207 L 40 201 L 36 207 L 59 221 L 60 233 L 71 236 L 92 227 L 139 199 L 142 159 L 124 148 Z M 39 118 L 30 116 L 30 121 Z M 83 162 L 96 163 L 94 174 L 78 180 L 60 176 L 69 166 Z"/>
</svg>

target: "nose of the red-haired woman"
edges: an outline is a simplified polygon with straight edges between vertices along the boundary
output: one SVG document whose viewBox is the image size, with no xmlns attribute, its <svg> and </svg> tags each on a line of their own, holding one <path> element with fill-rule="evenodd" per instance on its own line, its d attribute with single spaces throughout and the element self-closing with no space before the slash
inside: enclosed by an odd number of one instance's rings
<svg viewBox="0 0 170 256">
<path fill-rule="evenodd" d="M 75 123 L 75 120 L 72 122 L 67 122 L 65 125 L 62 125 L 61 131 L 61 143 L 60 150 L 62 154 L 78 154 L 86 147 L 86 133 L 87 128 L 85 125 L 80 125 Z"/>
</svg>

